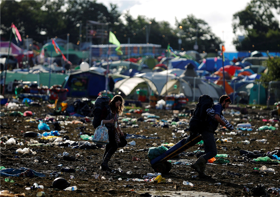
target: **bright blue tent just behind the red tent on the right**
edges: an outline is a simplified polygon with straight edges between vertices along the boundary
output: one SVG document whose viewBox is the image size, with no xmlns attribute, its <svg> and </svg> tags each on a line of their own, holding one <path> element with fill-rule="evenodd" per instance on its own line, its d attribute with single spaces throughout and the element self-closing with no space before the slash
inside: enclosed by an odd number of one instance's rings
<svg viewBox="0 0 280 197">
<path fill-rule="evenodd" d="M 203 61 L 199 66 L 198 70 L 204 70 L 209 72 L 215 72 L 219 70 L 219 68 L 223 67 L 222 58 L 217 59 L 215 62 L 215 57 L 207 57 L 206 61 Z M 228 59 L 225 59 L 224 66 L 231 65 L 230 61 Z"/>
</svg>

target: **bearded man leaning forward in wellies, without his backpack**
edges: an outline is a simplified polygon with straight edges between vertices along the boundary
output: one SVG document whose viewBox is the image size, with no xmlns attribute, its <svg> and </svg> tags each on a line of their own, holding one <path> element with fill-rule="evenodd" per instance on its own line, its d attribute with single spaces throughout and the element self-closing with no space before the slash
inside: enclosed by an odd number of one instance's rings
<svg viewBox="0 0 280 197">
<path fill-rule="evenodd" d="M 217 146 L 214 133 L 216 133 L 217 126 L 225 126 L 226 122 L 222 121 L 222 111 L 228 108 L 231 103 L 231 99 L 228 95 L 222 95 L 219 99 L 219 103 L 215 104 L 212 109 L 214 116 L 207 116 L 206 126 L 202 128 L 198 133 L 202 135 L 204 143 L 204 154 L 200 156 L 191 167 L 198 172 L 199 177 L 211 177 L 205 174 L 206 163 L 208 159 L 211 159 L 217 155 Z"/>
</svg>

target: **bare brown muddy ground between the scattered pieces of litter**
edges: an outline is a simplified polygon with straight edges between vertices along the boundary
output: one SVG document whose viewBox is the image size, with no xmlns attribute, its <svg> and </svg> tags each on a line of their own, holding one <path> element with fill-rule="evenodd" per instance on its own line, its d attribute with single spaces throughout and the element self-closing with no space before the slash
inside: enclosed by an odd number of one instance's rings
<svg viewBox="0 0 280 197">
<path fill-rule="evenodd" d="M 232 138 L 228 142 L 217 143 L 218 153 L 228 154 L 230 163 L 208 164 L 206 173 L 212 175 L 212 178 L 202 179 L 195 177 L 197 173 L 189 165 L 173 164 L 175 162 L 194 163 L 197 158 L 196 155 L 191 156 L 187 152 L 203 150 L 194 146 L 172 158 L 170 172 L 162 174 L 166 181 L 156 183 L 156 181 L 133 181 L 133 179 L 144 179 L 143 176 L 147 175 L 147 173 L 154 173 L 147 157 L 148 148 L 160 146 L 162 143 L 176 144 L 189 134 L 187 124 L 189 121 L 188 112 L 190 108 L 194 107 L 195 103 L 187 104 L 185 108 L 179 111 L 180 114 L 177 115 L 174 114 L 173 110 L 150 109 L 149 111 L 143 111 L 143 113 L 148 112 L 159 116 L 154 117 L 150 121 L 143 121 L 145 117 L 141 113 L 130 111 L 129 114 L 126 113 L 128 112 L 126 110 L 122 118 L 128 118 L 128 120 L 129 118 L 138 119 L 136 123 L 127 122 L 127 119 L 120 121 L 122 122 L 122 130 L 130 136 L 130 138 L 127 138 L 128 143 L 135 141 L 135 145 L 127 145 L 123 148 L 124 152 L 119 152 L 118 150 L 114 154 L 109 166 L 112 169 L 121 168 L 123 170 L 123 172 L 114 173 L 99 170 L 104 152 L 104 148 L 100 146 L 76 146 L 76 148 L 73 148 L 73 146 L 68 146 L 68 144 L 62 146 L 54 145 L 52 140 L 43 140 L 40 137 L 24 137 L 27 131 L 39 132 L 41 134 L 44 132 L 38 130 L 39 119 L 43 119 L 50 126 L 51 130 L 54 129 L 53 122 L 59 121 L 61 123 L 61 137 L 64 139 L 63 141 L 72 140 L 81 143 L 81 141 L 85 141 L 80 138 L 81 134 L 93 135 L 94 133 L 91 122 L 85 121 L 85 118 L 68 116 L 69 114 L 63 114 L 58 111 L 55 112 L 47 107 L 47 104 L 49 104 L 47 101 L 40 101 L 39 103 L 40 105 L 37 103 L 29 107 L 26 107 L 25 104 L 20 104 L 19 107 L 13 109 L 1 105 L 2 142 L 0 165 L 5 168 L 15 169 L 26 167 L 35 172 L 43 173 L 45 177 L 1 176 L 1 190 L 8 190 L 13 194 L 35 196 L 38 192 L 37 190 L 26 190 L 26 188 L 37 183 L 44 186 L 45 196 L 274 196 L 279 192 L 279 190 L 277 192 L 277 190 L 273 191 L 271 189 L 280 187 L 280 165 L 278 163 L 260 163 L 253 161 L 253 158 L 257 156 L 240 156 L 240 149 L 255 151 L 255 153 L 262 156 L 269 155 L 267 153 L 279 149 L 279 121 L 277 121 L 279 117 L 275 117 L 276 120 L 274 121 L 263 121 L 263 119 L 268 120 L 272 118 L 271 109 L 266 109 L 265 107 L 252 108 L 249 106 L 246 110 L 244 108 L 239 108 L 238 110 L 232 108 L 234 106 L 230 106 L 231 108 L 226 110 L 224 115 L 227 120 L 230 120 L 235 126 L 239 123 L 249 122 L 252 125 L 252 131 L 237 132 L 238 130 L 236 129 L 236 134 L 230 134 L 229 131 L 219 128 L 218 135 L 216 135 L 217 139 Z M 144 107 L 142 108 L 143 110 L 145 109 Z M 13 111 L 20 111 L 22 113 L 31 111 L 33 115 L 31 117 L 12 116 L 11 113 Z M 175 111 L 175 113 L 178 112 Z M 187 116 L 178 116 L 181 113 Z M 47 119 L 45 119 L 46 117 Z M 48 117 L 50 118 L 49 121 L 47 121 Z M 175 120 L 175 117 L 177 117 L 176 121 L 179 118 L 181 122 L 177 125 L 171 125 L 171 121 Z M 32 121 L 28 121 L 31 119 Z M 77 122 L 72 122 L 75 120 Z M 159 124 L 160 120 L 169 122 L 165 126 L 161 126 Z M 67 125 L 65 122 L 67 122 Z M 258 130 L 260 126 L 264 125 L 274 126 L 277 129 L 275 131 Z M 138 136 L 138 138 L 133 138 L 132 134 Z M 5 144 L 11 137 L 16 139 L 16 144 Z M 258 141 L 262 139 L 267 140 L 267 142 Z M 27 144 L 32 140 L 37 140 L 41 145 L 28 146 Z M 245 140 L 248 140 L 250 144 L 242 142 Z M 91 140 L 88 140 L 88 142 L 91 142 Z M 36 154 L 16 153 L 16 150 L 19 148 L 30 148 Z M 63 157 L 63 152 L 69 153 L 68 157 Z M 79 157 L 75 157 L 77 153 L 80 154 Z M 138 161 L 133 161 L 133 157 L 138 158 L 136 159 Z M 35 160 L 38 161 L 35 162 Z M 62 164 L 62 166 L 58 167 L 59 164 Z M 267 168 L 273 168 L 275 173 L 254 170 L 254 167 L 262 167 L 263 165 Z M 61 171 L 63 167 L 78 168 L 80 171 L 63 172 L 62 174 L 54 173 Z M 132 171 L 132 174 L 126 174 L 128 171 Z M 96 174 L 100 175 L 99 178 L 103 176 L 103 179 L 96 179 Z M 70 178 L 70 176 L 74 176 L 74 178 Z M 64 191 L 54 188 L 52 184 L 57 177 L 66 179 L 70 186 L 77 186 L 77 190 Z M 15 182 L 6 182 L 5 178 L 10 178 Z M 122 180 L 118 180 L 119 178 Z M 170 182 L 167 180 L 170 180 Z M 183 181 L 188 181 L 194 184 L 194 186 L 184 185 Z M 264 187 L 258 192 L 251 191 L 258 184 L 264 184 Z M 245 187 L 247 191 L 244 189 Z"/>
</svg>

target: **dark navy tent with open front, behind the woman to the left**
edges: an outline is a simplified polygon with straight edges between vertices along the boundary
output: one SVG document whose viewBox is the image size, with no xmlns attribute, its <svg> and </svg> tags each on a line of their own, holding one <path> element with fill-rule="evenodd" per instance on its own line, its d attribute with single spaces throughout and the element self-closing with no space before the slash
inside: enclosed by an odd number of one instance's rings
<svg viewBox="0 0 280 197">
<path fill-rule="evenodd" d="M 69 91 L 69 97 L 97 97 L 105 90 L 106 78 L 96 71 L 78 71 L 66 77 L 63 88 Z"/>
</svg>

